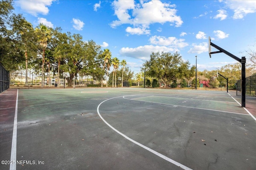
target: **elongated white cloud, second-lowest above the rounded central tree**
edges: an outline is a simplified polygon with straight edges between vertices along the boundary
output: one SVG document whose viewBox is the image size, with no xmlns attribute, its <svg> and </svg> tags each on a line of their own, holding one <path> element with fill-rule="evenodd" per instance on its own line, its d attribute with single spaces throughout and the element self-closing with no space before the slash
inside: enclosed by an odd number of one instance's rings
<svg viewBox="0 0 256 170">
<path fill-rule="evenodd" d="M 184 42 L 185 39 L 177 39 L 176 37 L 163 37 L 163 36 L 152 36 L 149 39 L 151 44 L 164 45 L 174 48 L 183 48 L 188 46 L 188 43 Z"/>
</svg>

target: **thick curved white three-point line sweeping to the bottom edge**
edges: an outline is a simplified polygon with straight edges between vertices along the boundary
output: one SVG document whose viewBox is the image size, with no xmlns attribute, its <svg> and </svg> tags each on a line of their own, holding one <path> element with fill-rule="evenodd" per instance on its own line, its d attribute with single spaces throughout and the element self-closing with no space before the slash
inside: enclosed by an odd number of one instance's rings
<svg viewBox="0 0 256 170">
<path fill-rule="evenodd" d="M 131 95 L 131 96 L 135 96 L 135 95 Z M 122 96 L 119 96 L 119 97 L 115 97 L 115 98 L 120 98 Z M 100 118 L 104 121 L 104 123 L 106 123 L 111 129 L 113 129 L 114 131 L 116 131 L 118 134 L 122 135 L 124 138 L 128 139 L 129 141 L 131 141 L 132 143 L 142 147 L 143 149 L 146 149 L 150 152 L 152 152 L 153 154 L 159 156 L 160 158 L 163 158 L 164 160 L 167 160 L 168 162 L 171 162 L 172 164 L 176 165 L 176 166 L 179 166 L 180 168 L 184 169 L 184 170 L 192 170 L 191 168 L 188 168 L 187 166 L 185 165 L 182 165 L 180 164 L 179 162 L 176 162 L 175 160 L 172 160 L 171 158 L 168 158 L 167 156 L 164 156 L 163 154 L 160 154 L 159 152 L 156 152 L 155 150 L 153 149 L 150 149 L 144 145 L 142 145 L 141 143 L 138 143 L 137 141 L 134 141 L 133 139 L 129 138 L 128 136 L 124 135 L 123 133 L 121 133 L 120 131 L 118 131 L 117 129 L 115 129 L 114 127 L 112 127 L 105 119 L 103 119 L 103 117 L 100 115 L 100 111 L 99 111 L 99 107 L 102 103 L 108 101 L 108 100 L 111 100 L 111 99 L 114 99 L 114 98 L 110 98 L 110 99 L 107 99 L 107 100 L 104 100 L 103 102 L 101 102 L 98 107 L 97 107 L 97 112 L 98 112 L 98 115 L 100 116 Z"/>
</svg>

